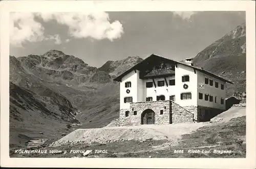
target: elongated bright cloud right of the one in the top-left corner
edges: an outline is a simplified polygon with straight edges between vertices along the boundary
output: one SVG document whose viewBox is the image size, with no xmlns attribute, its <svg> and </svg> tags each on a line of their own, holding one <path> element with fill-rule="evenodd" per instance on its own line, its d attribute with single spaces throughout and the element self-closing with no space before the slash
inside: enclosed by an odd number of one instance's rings
<svg viewBox="0 0 256 169">
<path fill-rule="evenodd" d="M 69 35 L 74 38 L 91 37 L 97 40 L 109 39 L 113 41 L 123 34 L 122 24 L 115 20 L 110 22 L 106 12 L 93 13 L 37 13 L 44 21 L 56 20 L 69 28 Z"/>
</svg>

